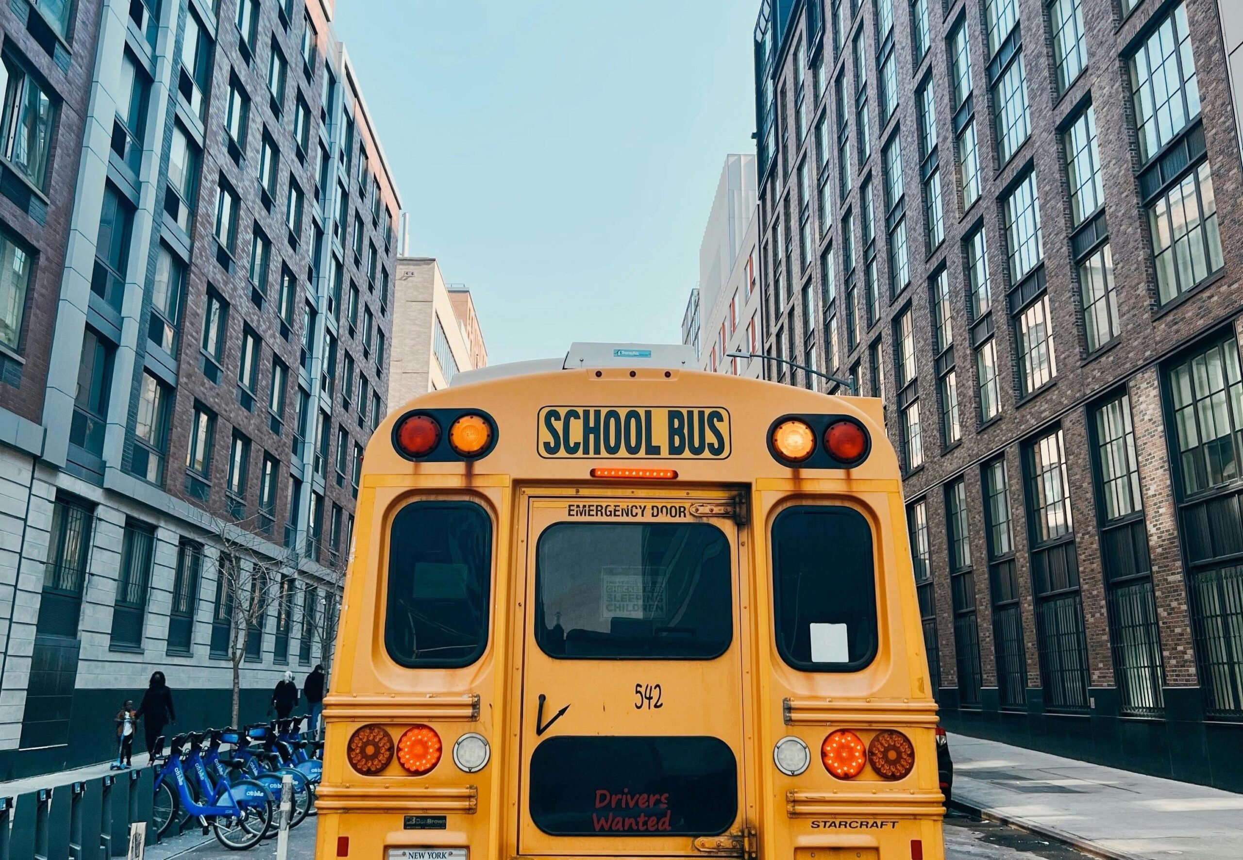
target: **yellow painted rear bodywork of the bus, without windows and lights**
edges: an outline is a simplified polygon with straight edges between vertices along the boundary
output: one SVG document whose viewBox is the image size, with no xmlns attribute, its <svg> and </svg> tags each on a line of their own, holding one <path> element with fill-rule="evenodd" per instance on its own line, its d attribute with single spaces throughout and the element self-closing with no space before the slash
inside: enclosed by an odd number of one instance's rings
<svg viewBox="0 0 1243 860">
<path fill-rule="evenodd" d="M 640 414 L 653 410 L 654 425 L 665 431 L 654 432 L 649 441 L 660 446 L 661 456 L 629 456 L 624 447 L 613 456 L 603 449 L 598 455 L 594 450 L 589 456 L 567 455 L 567 439 L 571 447 L 585 444 L 573 426 L 549 455 L 552 440 L 547 411 L 542 410 L 566 404 L 633 408 Z M 409 410 L 466 408 L 486 413 L 496 424 L 495 449 L 482 459 L 411 462 L 395 451 L 393 426 Z M 699 420 L 696 410 L 727 411 L 727 452 L 716 445 L 712 454 L 705 444 L 699 456 L 689 451 L 669 455 L 669 410 L 680 410 L 692 423 Z M 870 455 L 850 470 L 783 466 L 769 452 L 768 434 L 777 418 L 799 414 L 840 414 L 859 420 L 871 436 Z M 705 416 L 705 428 L 709 420 Z M 713 423 L 722 429 L 720 416 Z M 707 437 L 713 441 L 711 434 Z M 609 466 L 674 469 L 677 477 L 641 482 L 590 477 L 593 467 Z M 492 521 L 487 646 L 464 669 L 405 669 L 384 645 L 387 536 L 404 505 L 429 498 L 471 500 Z M 736 605 L 733 640 L 723 659 L 567 660 L 553 665 L 538 654 L 528 629 L 533 543 L 541 528 L 563 521 L 569 505 L 585 500 L 592 505 L 655 505 L 679 512 L 694 505 L 700 512 L 694 518 L 713 522 L 727 534 L 736 564 Z M 827 502 L 854 508 L 873 532 L 879 649 L 866 667 L 854 672 L 794 670 L 778 655 L 774 640 L 769 526 L 791 505 Z M 745 522 L 736 524 L 728 512 L 743 503 Z M 915 850 L 912 840 L 921 841 L 926 860 L 943 858 L 936 703 L 899 464 L 885 435 L 879 400 L 664 369 L 563 370 L 420 396 L 393 411 L 368 445 L 341 613 L 323 715 L 319 860 L 385 860 L 389 849 L 466 849 L 467 860 L 906 860 Z M 525 677 L 528 671 L 531 676 Z M 730 681 L 735 671 L 738 675 Z M 619 706 L 628 686 L 633 700 L 634 685 L 653 679 L 661 680 L 667 713 Z M 539 685 L 559 688 L 558 696 L 573 701 L 562 725 L 547 728 L 544 737 L 571 730 L 600 736 L 650 733 L 650 726 L 645 730 L 640 720 L 653 713 L 659 715 L 653 718 L 661 721 L 664 733 L 720 736 L 738 764 L 735 825 L 709 839 L 571 838 L 539 831 L 525 808 L 526 768 L 537 722 L 534 687 Z M 564 703 L 553 695 L 548 698 L 546 723 Z M 727 707 L 707 707 L 713 702 Z M 355 730 L 369 723 L 384 726 L 394 741 L 415 723 L 431 726 L 444 742 L 443 759 L 421 777 L 410 775 L 395 759 L 377 775 L 362 775 L 347 763 L 346 746 Z M 819 761 L 819 749 L 837 728 L 855 731 L 864 743 L 879 731 L 901 731 L 915 748 L 912 772 L 894 782 L 870 768 L 850 780 L 832 777 Z M 488 763 L 470 774 L 455 767 L 450 752 L 467 732 L 482 734 L 491 747 Z M 802 738 L 812 752 L 810 766 L 797 777 L 784 775 L 773 764 L 773 746 L 787 734 Z"/>
</svg>

